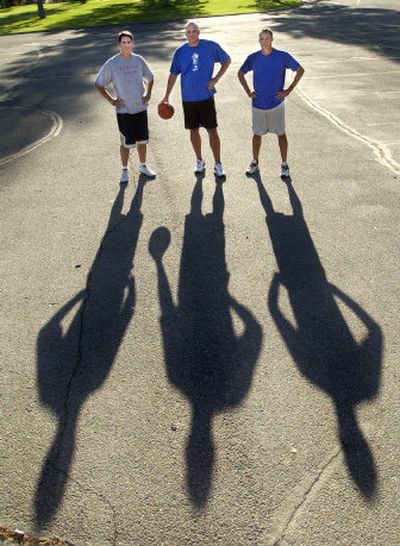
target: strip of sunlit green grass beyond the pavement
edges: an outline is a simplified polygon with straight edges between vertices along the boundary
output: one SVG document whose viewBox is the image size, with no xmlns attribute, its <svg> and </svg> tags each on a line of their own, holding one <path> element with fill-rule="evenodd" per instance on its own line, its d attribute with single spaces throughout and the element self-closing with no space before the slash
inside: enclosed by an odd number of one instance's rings
<svg viewBox="0 0 400 546">
<path fill-rule="evenodd" d="M 207 15 L 270 11 L 295 6 L 300 0 L 87 0 L 45 4 L 45 19 L 36 4 L 0 9 L 0 34 L 60 30 L 98 25 L 165 21 Z"/>
</svg>

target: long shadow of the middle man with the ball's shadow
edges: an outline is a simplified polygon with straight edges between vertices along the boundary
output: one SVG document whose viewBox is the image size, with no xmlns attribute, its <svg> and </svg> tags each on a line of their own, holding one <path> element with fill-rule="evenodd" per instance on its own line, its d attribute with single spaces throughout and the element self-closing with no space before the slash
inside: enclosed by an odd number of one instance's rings
<svg viewBox="0 0 400 546">
<path fill-rule="evenodd" d="M 192 407 L 186 487 L 198 509 L 205 506 L 212 488 L 213 417 L 246 398 L 262 342 L 261 326 L 228 290 L 222 181 L 216 180 L 210 214 L 201 210 L 202 183 L 202 175 L 197 176 L 185 220 L 177 304 L 162 261 L 170 243 L 169 230 L 158 228 L 149 242 L 157 267 L 168 379 Z M 240 333 L 235 332 L 232 313 L 240 322 Z"/>
</svg>

